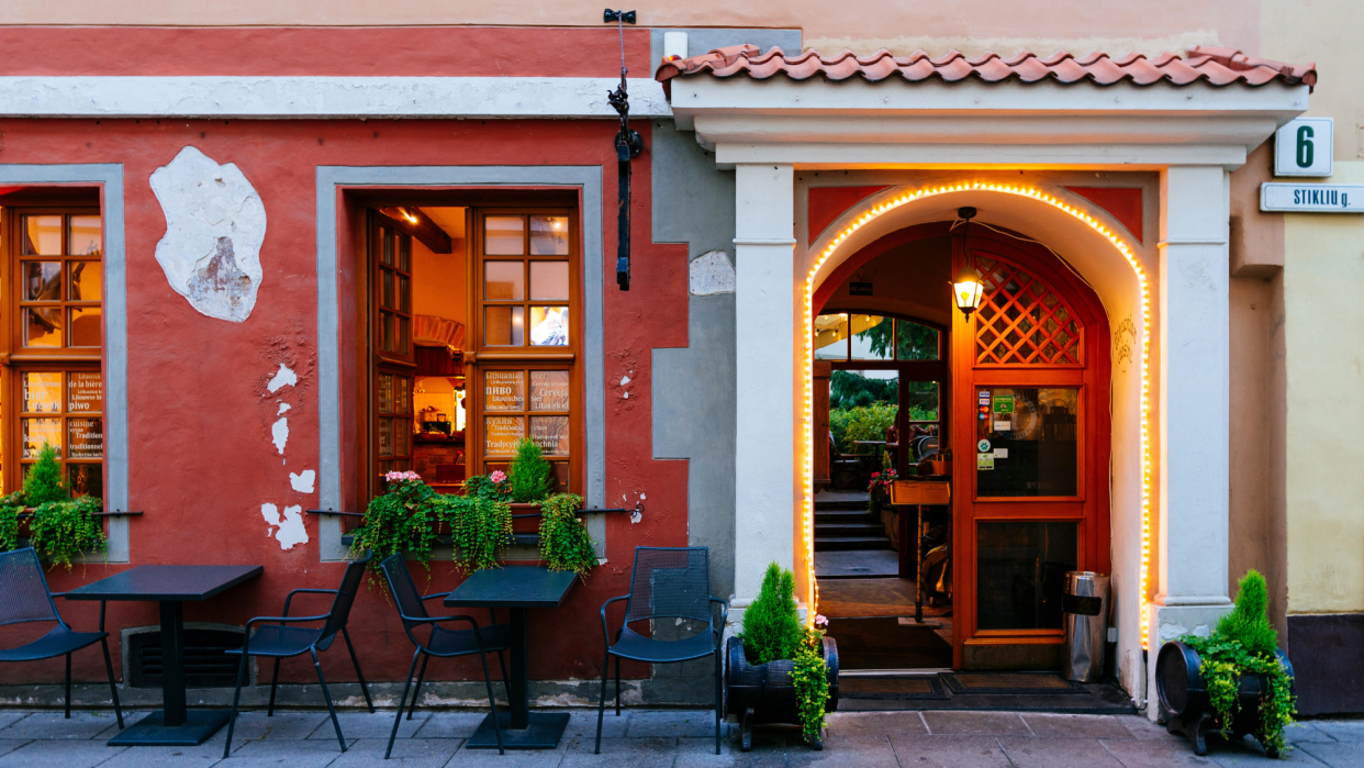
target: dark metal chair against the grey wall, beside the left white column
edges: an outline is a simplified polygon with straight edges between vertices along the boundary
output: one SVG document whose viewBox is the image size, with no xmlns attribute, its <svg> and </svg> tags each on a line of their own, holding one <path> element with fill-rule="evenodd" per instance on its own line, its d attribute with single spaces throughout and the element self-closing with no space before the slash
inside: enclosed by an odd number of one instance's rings
<svg viewBox="0 0 1364 768">
<path fill-rule="evenodd" d="M 606 608 L 626 600 L 625 622 L 615 633 L 615 645 L 606 623 Z M 715 623 L 713 603 L 720 604 L 720 623 Z M 707 547 L 636 547 L 630 573 L 630 593 L 602 603 L 602 636 L 606 658 L 602 660 L 602 703 L 597 705 L 596 754 L 602 754 L 602 718 L 606 715 L 606 682 L 611 656 L 615 656 L 615 715 L 621 716 L 621 659 L 671 664 L 715 656 L 715 753 L 720 754 L 720 636 L 730 617 L 730 604 L 711 596 L 711 563 Z M 630 629 L 649 619 L 704 621 L 705 632 L 683 640 L 653 640 Z"/>
</svg>

